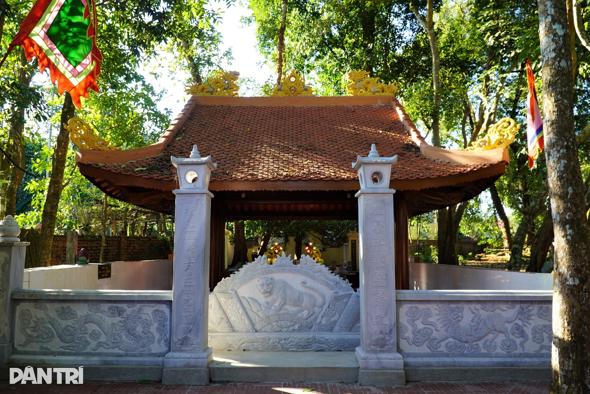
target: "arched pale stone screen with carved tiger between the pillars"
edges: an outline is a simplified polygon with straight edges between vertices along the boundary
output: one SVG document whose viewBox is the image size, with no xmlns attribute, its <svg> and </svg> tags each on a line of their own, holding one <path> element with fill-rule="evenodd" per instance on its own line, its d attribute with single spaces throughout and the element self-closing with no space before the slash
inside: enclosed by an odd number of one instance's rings
<svg viewBox="0 0 590 394">
<path fill-rule="evenodd" d="M 355 350 L 359 330 L 359 295 L 309 256 L 260 256 L 209 294 L 214 350 Z"/>
</svg>

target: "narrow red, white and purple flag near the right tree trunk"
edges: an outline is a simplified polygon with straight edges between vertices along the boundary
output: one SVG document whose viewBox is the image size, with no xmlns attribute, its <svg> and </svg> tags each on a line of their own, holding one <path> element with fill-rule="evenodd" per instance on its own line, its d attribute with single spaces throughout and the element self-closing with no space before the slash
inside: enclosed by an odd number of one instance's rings
<svg viewBox="0 0 590 394">
<path fill-rule="evenodd" d="M 543 150 L 545 142 L 543 139 L 543 119 L 539 112 L 539 101 L 535 89 L 535 75 L 530 68 L 530 61 L 526 61 L 526 78 L 529 81 L 529 94 L 526 98 L 526 139 L 529 145 L 529 169 L 535 165 L 539 157 L 539 150 Z"/>
</svg>

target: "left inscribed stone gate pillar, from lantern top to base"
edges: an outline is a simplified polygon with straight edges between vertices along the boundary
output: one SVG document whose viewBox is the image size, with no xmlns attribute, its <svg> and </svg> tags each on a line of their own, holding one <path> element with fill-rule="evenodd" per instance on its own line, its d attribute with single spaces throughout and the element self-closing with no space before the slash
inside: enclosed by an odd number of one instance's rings
<svg viewBox="0 0 590 394">
<path fill-rule="evenodd" d="M 201 157 L 196 145 L 189 159 L 171 157 L 178 171 L 172 284 L 172 333 L 166 354 L 163 385 L 208 385 L 212 350 L 208 346 L 209 225 L 211 198 L 207 190 L 211 156 Z"/>
</svg>

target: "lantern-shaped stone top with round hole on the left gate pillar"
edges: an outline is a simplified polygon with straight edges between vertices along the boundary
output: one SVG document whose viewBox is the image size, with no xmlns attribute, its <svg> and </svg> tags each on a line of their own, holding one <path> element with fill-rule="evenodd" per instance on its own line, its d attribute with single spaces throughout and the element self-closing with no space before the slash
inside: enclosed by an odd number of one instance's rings
<svg viewBox="0 0 590 394">
<path fill-rule="evenodd" d="M 211 171 L 217 167 L 217 163 L 212 162 L 211 155 L 201 157 L 196 145 L 192 146 L 188 159 L 170 156 L 170 160 L 178 172 L 181 189 L 207 189 Z"/>
</svg>

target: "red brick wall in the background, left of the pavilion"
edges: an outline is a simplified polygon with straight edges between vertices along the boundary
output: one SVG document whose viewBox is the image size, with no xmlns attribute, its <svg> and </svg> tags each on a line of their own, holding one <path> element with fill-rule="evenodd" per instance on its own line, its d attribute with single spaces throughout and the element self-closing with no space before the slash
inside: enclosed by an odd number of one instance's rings
<svg viewBox="0 0 590 394">
<path fill-rule="evenodd" d="M 78 250 L 90 254 L 90 262 L 98 262 L 101 237 L 78 237 Z M 158 237 L 107 236 L 104 261 L 166 260 L 171 253 L 166 242 Z M 51 264 L 65 264 L 65 235 L 54 235 Z"/>
</svg>

